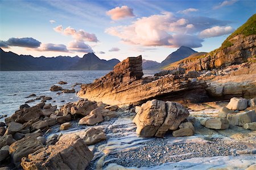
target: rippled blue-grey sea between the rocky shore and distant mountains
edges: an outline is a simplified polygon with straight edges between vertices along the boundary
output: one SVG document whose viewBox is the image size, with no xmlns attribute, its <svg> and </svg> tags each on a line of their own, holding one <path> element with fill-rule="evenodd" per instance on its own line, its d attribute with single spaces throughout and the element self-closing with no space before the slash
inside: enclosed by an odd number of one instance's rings
<svg viewBox="0 0 256 170">
<path fill-rule="evenodd" d="M 157 71 L 144 70 L 144 76 L 154 75 Z M 27 100 L 35 97 L 26 96 L 35 94 L 36 96 L 51 96 L 52 100 L 47 103 L 60 107 L 69 101 L 77 101 L 76 94 L 56 95 L 56 92 L 49 91 L 49 88 L 61 80 L 68 84 L 59 85 L 65 89 L 71 89 L 75 83 L 92 83 L 94 79 L 101 78 L 109 71 L 0 71 L 0 115 L 11 116 L 19 106 Z M 80 86 L 75 87 L 76 91 Z M 64 102 L 61 102 L 63 101 Z M 55 101 L 55 102 L 53 102 Z M 35 100 L 28 105 L 33 106 L 39 103 Z M 3 121 L 1 118 L 0 121 Z"/>
</svg>

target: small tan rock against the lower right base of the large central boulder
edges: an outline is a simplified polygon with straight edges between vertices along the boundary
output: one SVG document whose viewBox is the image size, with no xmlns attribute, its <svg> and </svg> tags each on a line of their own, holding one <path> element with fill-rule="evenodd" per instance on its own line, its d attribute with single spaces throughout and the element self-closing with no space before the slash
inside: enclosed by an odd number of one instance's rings
<svg viewBox="0 0 256 170">
<path fill-rule="evenodd" d="M 195 127 L 191 122 L 182 122 L 179 129 L 172 132 L 174 137 L 192 136 L 195 133 Z"/>
</svg>

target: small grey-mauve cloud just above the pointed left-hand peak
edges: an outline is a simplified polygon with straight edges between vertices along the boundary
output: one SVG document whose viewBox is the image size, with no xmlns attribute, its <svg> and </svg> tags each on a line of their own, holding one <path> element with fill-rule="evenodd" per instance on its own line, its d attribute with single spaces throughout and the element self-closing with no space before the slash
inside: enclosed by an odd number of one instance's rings
<svg viewBox="0 0 256 170">
<path fill-rule="evenodd" d="M 68 43 L 68 50 L 81 53 L 93 53 L 92 48 L 82 41 L 71 41 Z"/>
</svg>

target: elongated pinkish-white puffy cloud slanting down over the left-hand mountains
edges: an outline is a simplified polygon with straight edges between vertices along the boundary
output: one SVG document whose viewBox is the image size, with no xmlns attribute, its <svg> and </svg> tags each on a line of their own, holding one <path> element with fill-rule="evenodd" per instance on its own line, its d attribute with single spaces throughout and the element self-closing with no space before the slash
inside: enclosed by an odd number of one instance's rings
<svg viewBox="0 0 256 170">
<path fill-rule="evenodd" d="M 63 30 L 62 25 L 59 25 L 56 28 L 53 28 L 56 32 L 61 32 L 64 35 L 72 36 L 77 41 L 90 41 L 90 42 L 98 42 L 98 39 L 94 33 L 85 32 L 83 29 L 76 31 L 76 29 L 67 27 Z"/>
</svg>

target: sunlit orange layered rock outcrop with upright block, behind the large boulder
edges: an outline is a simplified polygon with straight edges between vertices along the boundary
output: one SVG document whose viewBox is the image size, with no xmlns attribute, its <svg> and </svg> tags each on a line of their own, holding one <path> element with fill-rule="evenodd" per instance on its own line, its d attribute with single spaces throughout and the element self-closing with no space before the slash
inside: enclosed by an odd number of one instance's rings
<svg viewBox="0 0 256 170">
<path fill-rule="evenodd" d="M 178 75 L 142 78 L 141 63 L 141 56 L 127 58 L 92 84 L 82 84 L 77 95 L 109 105 L 142 104 L 150 99 L 205 100 L 205 82 L 191 82 L 185 77 L 179 78 Z"/>
</svg>

